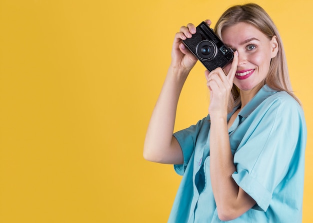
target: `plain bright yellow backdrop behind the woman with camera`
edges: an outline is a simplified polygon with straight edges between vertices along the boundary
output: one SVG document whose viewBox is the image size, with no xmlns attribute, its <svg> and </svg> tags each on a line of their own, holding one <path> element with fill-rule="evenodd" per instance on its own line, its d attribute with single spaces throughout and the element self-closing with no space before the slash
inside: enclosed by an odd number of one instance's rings
<svg viewBox="0 0 313 223">
<path fill-rule="evenodd" d="M 0 0 L 0 223 L 166 222 L 181 178 L 144 161 L 142 147 L 174 34 L 188 22 L 214 25 L 243 2 Z M 303 103 L 303 222 L 311 223 L 313 2 L 255 2 L 280 31 Z M 175 130 L 207 107 L 198 63 Z"/>
</svg>

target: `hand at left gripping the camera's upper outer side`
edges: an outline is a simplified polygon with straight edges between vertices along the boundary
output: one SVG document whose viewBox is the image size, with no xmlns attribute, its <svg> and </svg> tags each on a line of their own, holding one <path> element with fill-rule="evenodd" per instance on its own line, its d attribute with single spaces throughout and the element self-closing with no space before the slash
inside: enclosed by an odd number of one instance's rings
<svg viewBox="0 0 313 223">
<path fill-rule="evenodd" d="M 205 20 L 206 24 L 210 25 L 210 20 Z M 191 38 L 192 34 L 196 32 L 195 26 L 192 23 L 187 26 L 181 26 L 179 32 L 175 34 L 172 51 L 171 64 L 172 68 L 183 69 L 189 73 L 195 65 L 197 58 L 190 52 L 190 50 L 182 43 L 182 40 Z"/>
</svg>

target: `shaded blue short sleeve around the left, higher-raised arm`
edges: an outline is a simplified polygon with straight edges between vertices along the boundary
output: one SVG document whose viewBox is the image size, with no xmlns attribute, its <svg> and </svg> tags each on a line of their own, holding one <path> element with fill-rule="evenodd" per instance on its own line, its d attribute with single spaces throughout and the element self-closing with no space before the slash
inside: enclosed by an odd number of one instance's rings
<svg viewBox="0 0 313 223">
<path fill-rule="evenodd" d="M 209 125 L 208 117 L 199 120 L 195 125 L 191 125 L 173 134 L 180 145 L 183 155 L 183 164 L 174 165 L 174 170 L 178 175 L 183 175 L 194 151 L 198 134 L 205 123 Z"/>
</svg>

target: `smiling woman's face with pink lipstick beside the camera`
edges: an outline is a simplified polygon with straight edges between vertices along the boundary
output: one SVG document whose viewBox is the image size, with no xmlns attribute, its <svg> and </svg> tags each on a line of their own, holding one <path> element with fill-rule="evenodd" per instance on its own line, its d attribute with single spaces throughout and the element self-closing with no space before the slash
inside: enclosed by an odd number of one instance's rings
<svg viewBox="0 0 313 223">
<path fill-rule="evenodd" d="M 258 91 L 269 69 L 271 58 L 278 51 L 276 36 L 268 39 L 260 30 L 245 22 L 226 27 L 222 40 L 233 51 L 238 51 L 238 65 L 233 83 L 244 91 Z M 224 71 L 228 73 L 231 64 Z"/>
</svg>

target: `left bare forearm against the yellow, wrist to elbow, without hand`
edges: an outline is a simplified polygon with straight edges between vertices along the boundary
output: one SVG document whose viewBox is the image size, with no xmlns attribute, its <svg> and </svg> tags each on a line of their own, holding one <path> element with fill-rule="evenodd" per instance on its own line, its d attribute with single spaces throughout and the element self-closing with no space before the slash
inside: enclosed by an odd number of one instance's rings
<svg viewBox="0 0 313 223">
<path fill-rule="evenodd" d="M 143 156 L 147 160 L 160 163 L 182 160 L 175 156 L 171 146 L 178 98 L 186 77 L 184 70 L 168 69 L 145 136 Z"/>
</svg>

